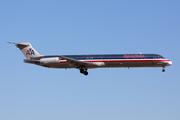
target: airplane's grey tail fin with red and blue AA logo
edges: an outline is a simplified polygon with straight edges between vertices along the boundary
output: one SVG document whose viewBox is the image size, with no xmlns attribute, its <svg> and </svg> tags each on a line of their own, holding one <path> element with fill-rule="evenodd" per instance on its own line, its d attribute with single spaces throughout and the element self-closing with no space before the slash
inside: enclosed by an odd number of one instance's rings
<svg viewBox="0 0 180 120">
<path fill-rule="evenodd" d="M 27 59 L 31 59 L 31 58 L 35 58 L 35 57 L 40 57 L 43 56 L 41 54 L 39 54 L 32 46 L 30 43 L 12 43 L 12 42 L 8 42 L 10 44 L 15 44 L 20 50 L 21 52 L 24 54 L 24 56 Z"/>
</svg>

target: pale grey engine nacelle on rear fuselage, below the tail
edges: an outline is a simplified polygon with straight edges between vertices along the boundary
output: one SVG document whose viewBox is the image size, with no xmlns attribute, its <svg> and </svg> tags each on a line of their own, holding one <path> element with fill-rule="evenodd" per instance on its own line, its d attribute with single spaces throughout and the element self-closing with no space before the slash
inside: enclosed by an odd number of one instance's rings
<svg viewBox="0 0 180 120">
<path fill-rule="evenodd" d="M 53 64 L 53 63 L 59 63 L 59 57 L 53 57 L 53 58 L 41 58 L 40 59 L 41 64 Z"/>
</svg>

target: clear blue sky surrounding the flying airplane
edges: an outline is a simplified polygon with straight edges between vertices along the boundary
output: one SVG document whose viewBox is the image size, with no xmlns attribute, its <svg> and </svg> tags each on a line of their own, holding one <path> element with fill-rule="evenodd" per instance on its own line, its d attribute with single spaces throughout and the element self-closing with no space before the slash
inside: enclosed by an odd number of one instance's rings
<svg viewBox="0 0 180 120">
<path fill-rule="evenodd" d="M 180 120 L 179 0 L 1 0 L 0 120 Z M 162 68 L 48 69 L 44 55 L 156 53 Z"/>
</svg>

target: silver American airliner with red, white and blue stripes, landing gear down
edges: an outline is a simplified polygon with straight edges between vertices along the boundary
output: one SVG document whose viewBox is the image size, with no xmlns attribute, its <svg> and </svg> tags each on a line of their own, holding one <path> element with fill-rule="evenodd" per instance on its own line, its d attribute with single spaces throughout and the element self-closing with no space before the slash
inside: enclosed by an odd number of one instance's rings
<svg viewBox="0 0 180 120">
<path fill-rule="evenodd" d="M 158 54 L 102 54 L 102 55 L 52 55 L 39 54 L 30 43 L 12 43 L 21 50 L 26 59 L 24 63 L 31 63 L 48 68 L 76 68 L 80 73 L 88 75 L 87 70 L 93 68 L 115 67 L 165 67 L 172 62 Z"/>
</svg>

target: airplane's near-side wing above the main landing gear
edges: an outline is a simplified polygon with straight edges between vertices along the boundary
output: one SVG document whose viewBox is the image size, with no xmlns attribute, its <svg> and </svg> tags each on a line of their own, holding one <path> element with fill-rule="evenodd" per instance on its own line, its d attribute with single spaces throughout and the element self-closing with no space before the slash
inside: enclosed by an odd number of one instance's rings
<svg viewBox="0 0 180 120">
<path fill-rule="evenodd" d="M 91 62 L 79 61 L 79 60 L 75 60 L 75 59 L 60 56 L 60 55 L 57 55 L 57 56 L 67 60 L 67 62 L 69 64 L 75 66 L 76 68 L 80 68 L 80 67 L 89 68 L 89 67 L 98 67 L 99 66 L 98 64 L 94 64 L 94 63 L 91 63 Z"/>
</svg>

